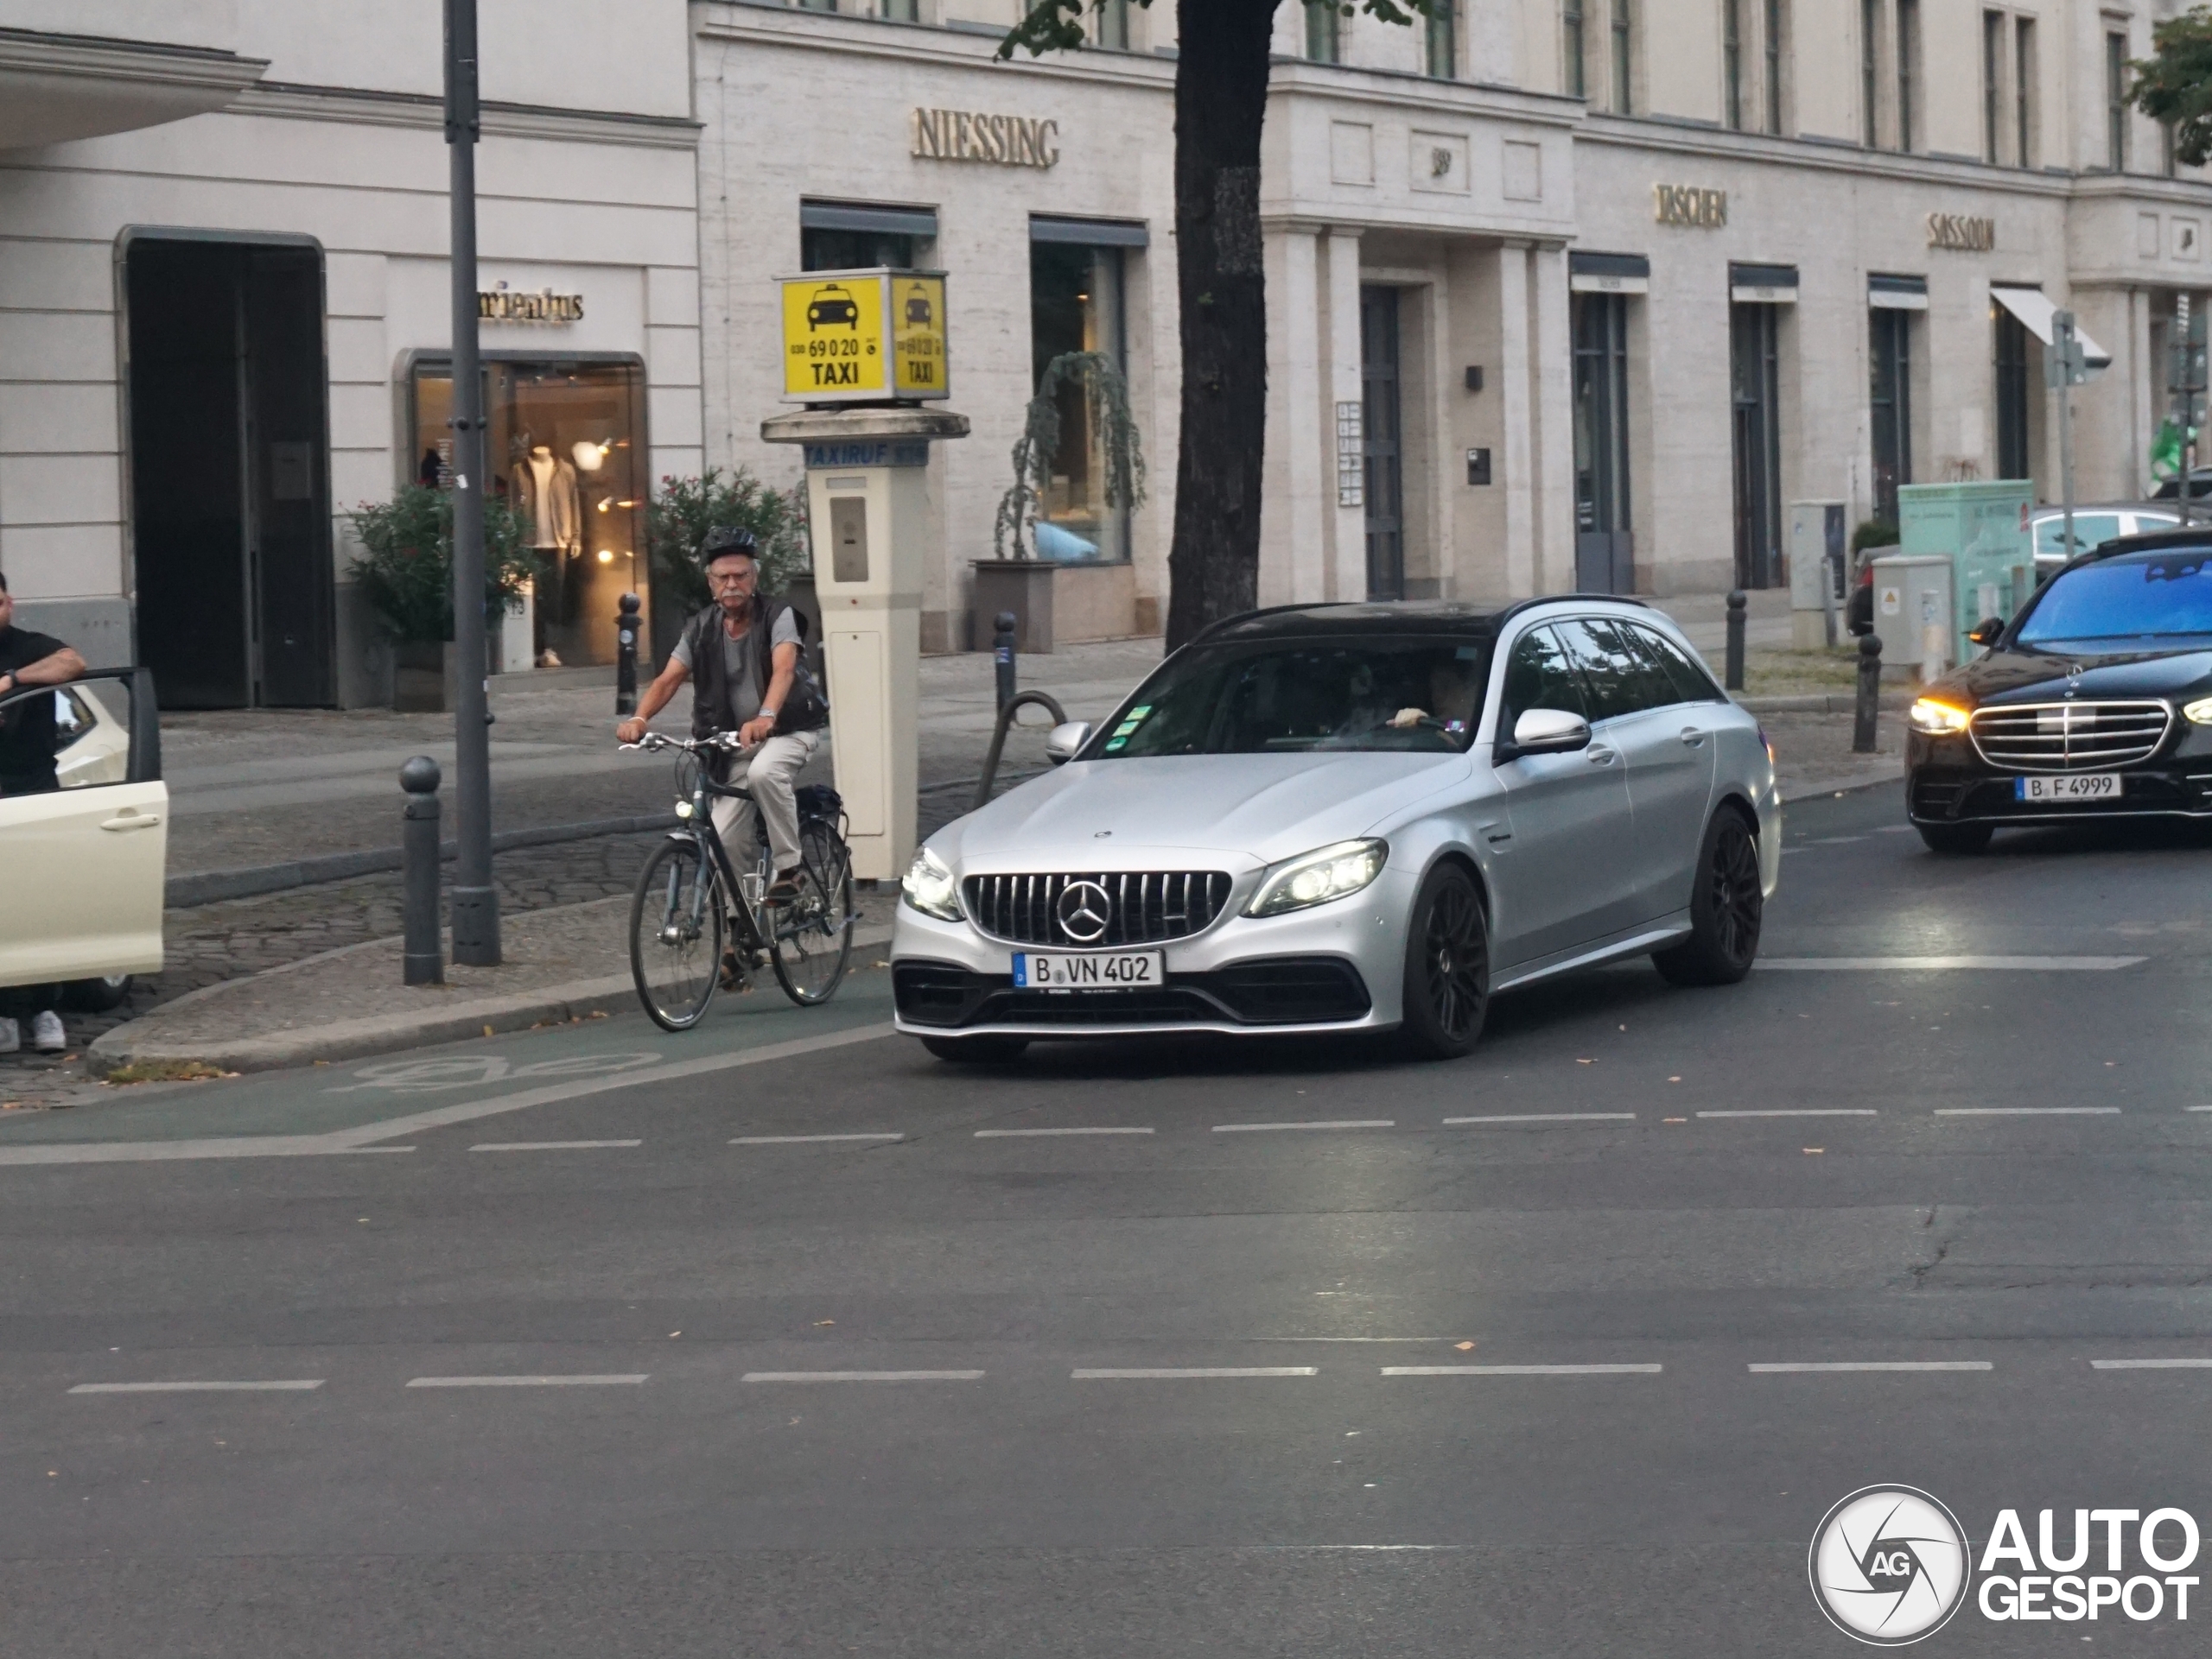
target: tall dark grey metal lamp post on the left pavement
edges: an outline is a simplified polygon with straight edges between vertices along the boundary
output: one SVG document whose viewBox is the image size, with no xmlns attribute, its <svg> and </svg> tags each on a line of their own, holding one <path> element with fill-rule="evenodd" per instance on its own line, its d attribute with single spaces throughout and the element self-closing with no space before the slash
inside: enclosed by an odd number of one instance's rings
<svg viewBox="0 0 2212 1659">
<path fill-rule="evenodd" d="M 445 0 L 445 144 L 453 206 L 453 960 L 500 962 L 491 885 L 491 714 L 484 686 L 484 385 L 476 354 L 476 0 Z"/>
</svg>

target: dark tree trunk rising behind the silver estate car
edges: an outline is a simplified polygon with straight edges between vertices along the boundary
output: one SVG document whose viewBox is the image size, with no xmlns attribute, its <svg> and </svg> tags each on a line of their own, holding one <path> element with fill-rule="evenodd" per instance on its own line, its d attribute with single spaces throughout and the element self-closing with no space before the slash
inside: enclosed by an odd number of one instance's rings
<svg viewBox="0 0 2212 1659">
<path fill-rule="evenodd" d="M 1259 602 L 1267 294 L 1259 133 L 1276 0 L 1183 0 L 1175 62 L 1175 276 L 1183 431 L 1168 648 Z"/>
</svg>

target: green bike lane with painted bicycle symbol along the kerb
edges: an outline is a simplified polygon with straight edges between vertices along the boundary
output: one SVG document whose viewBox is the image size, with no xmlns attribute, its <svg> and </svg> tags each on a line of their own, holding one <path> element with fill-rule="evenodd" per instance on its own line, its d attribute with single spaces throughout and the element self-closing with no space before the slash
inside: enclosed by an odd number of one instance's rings
<svg viewBox="0 0 2212 1659">
<path fill-rule="evenodd" d="M 414 1128 L 529 1110 L 628 1086 L 841 1048 L 889 1033 L 891 975 L 856 967 L 818 1009 L 774 982 L 719 995 L 692 1031 L 661 1031 L 630 1002 L 606 1018 L 498 1037 L 250 1073 L 119 1086 L 113 1097 L 0 1119 L 9 1164 L 166 1157 L 305 1157 L 387 1150 Z"/>
</svg>

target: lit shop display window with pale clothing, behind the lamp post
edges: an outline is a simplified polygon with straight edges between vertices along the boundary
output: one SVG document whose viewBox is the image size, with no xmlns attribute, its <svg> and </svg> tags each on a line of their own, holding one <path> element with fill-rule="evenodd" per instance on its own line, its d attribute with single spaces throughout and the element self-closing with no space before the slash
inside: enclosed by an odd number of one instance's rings
<svg viewBox="0 0 2212 1659">
<path fill-rule="evenodd" d="M 414 369 L 416 482 L 453 487 L 453 369 Z M 622 595 L 650 613 L 646 372 L 628 361 L 484 363 L 491 493 L 531 524 L 544 573 L 531 595 L 540 668 L 615 661 Z"/>
</svg>

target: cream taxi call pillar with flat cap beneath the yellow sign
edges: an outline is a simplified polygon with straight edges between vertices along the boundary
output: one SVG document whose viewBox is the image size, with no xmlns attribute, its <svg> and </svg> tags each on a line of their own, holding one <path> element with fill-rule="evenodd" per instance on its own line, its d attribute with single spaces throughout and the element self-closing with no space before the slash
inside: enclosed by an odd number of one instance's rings
<svg viewBox="0 0 2212 1659">
<path fill-rule="evenodd" d="M 803 409 L 761 422 L 805 447 L 814 595 L 830 670 L 830 752 L 856 880 L 898 880 L 916 849 L 929 445 L 964 438 L 949 409 Z"/>
</svg>

